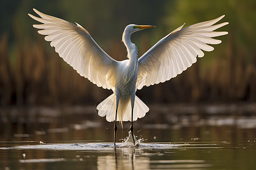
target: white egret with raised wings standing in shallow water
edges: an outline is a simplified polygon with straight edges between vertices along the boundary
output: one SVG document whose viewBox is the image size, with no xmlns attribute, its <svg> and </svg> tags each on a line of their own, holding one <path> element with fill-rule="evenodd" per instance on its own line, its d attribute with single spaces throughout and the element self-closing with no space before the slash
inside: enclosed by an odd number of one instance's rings
<svg viewBox="0 0 256 170">
<path fill-rule="evenodd" d="M 203 57 L 202 50 L 209 52 L 214 49 L 208 44 L 221 43 L 221 40 L 212 37 L 228 34 L 214 32 L 228 24 L 213 25 L 224 15 L 186 28 L 183 28 L 183 24 L 138 58 L 137 47 L 130 40 L 131 34 L 155 26 L 130 24 L 122 35 L 128 59 L 116 61 L 98 46 L 81 25 L 43 14 L 36 9 L 34 11 L 41 18 L 28 15 L 43 24 L 34 24 L 33 27 L 41 29 L 38 33 L 45 35 L 46 41 L 51 41 L 50 45 L 55 47 L 59 56 L 90 82 L 113 91 L 112 95 L 98 104 L 97 110 L 100 116 L 106 116 L 107 121 L 115 121 L 114 145 L 117 121 L 121 124 L 122 121 L 131 121 L 130 129 L 135 143 L 133 121 L 144 117 L 149 111 L 147 105 L 135 96 L 137 90 L 174 78 L 195 63 L 197 56 Z"/>
</svg>

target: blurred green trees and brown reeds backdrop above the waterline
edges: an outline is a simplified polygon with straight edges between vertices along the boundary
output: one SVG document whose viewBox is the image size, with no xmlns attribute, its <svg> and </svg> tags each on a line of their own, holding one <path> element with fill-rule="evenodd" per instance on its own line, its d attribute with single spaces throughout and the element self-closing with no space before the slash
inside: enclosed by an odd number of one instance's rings
<svg viewBox="0 0 256 170">
<path fill-rule="evenodd" d="M 256 101 L 256 1 L 14 1 L 0 0 L 0 104 L 96 104 L 112 91 L 81 77 L 39 35 L 27 13 L 32 8 L 86 28 L 110 56 L 126 59 L 121 42 L 127 24 L 153 24 L 154 29 L 134 33 L 139 56 L 163 36 L 182 25 L 217 18 L 229 22 L 218 31 L 213 52 L 166 83 L 137 91 L 150 103 L 233 103 Z"/>
</svg>

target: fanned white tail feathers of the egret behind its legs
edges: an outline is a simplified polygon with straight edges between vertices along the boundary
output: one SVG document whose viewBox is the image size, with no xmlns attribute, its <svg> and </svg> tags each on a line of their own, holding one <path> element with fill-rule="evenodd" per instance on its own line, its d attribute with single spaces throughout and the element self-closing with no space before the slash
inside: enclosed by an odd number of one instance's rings
<svg viewBox="0 0 256 170">
<path fill-rule="evenodd" d="M 115 120 L 115 95 L 112 94 L 107 97 L 104 101 L 97 105 L 98 115 L 101 117 L 106 116 L 106 120 L 112 122 Z M 134 101 L 134 112 L 133 121 L 137 121 L 138 118 L 142 118 L 149 111 L 146 104 L 135 96 Z M 121 101 L 119 100 L 118 111 L 117 111 L 117 121 L 131 121 L 131 101 Z"/>
</svg>

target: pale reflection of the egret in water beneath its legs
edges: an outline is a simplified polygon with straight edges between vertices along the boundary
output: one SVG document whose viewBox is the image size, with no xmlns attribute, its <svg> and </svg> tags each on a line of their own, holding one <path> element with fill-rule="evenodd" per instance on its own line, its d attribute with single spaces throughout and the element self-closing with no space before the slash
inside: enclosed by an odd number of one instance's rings
<svg viewBox="0 0 256 170">
<path fill-rule="evenodd" d="M 154 145 L 151 144 L 154 150 Z M 142 155 L 147 155 L 144 157 Z M 114 155 L 98 156 L 97 169 L 167 169 L 167 168 L 207 168 L 205 160 L 150 160 L 150 152 L 136 147 L 114 148 Z"/>
</svg>

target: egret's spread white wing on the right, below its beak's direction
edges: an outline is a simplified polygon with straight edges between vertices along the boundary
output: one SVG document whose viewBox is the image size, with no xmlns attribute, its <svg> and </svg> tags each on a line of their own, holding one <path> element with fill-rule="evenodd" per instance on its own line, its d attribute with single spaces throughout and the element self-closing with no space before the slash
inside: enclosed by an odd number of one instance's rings
<svg viewBox="0 0 256 170">
<path fill-rule="evenodd" d="M 213 25 L 223 17 L 224 15 L 181 29 L 183 24 L 152 46 L 138 60 L 137 89 L 170 80 L 195 63 L 197 56 L 203 57 L 202 50 L 212 51 L 214 48 L 207 44 L 221 43 L 221 40 L 212 37 L 228 34 L 214 32 L 228 24 L 225 22 Z"/>
</svg>

